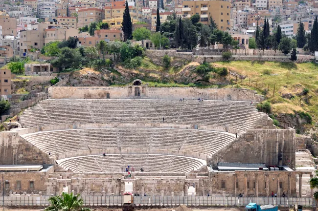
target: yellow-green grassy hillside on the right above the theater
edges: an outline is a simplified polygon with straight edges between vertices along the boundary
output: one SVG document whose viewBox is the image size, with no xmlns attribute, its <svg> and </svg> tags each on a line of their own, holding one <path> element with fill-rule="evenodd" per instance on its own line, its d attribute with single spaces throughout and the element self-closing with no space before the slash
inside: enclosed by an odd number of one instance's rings
<svg viewBox="0 0 318 211">
<path fill-rule="evenodd" d="M 236 82 L 236 77 L 230 76 L 235 87 L 255 89 L 260 94 L 264 93 L 264 89 L 269 89 L 266 97 L 272 103 L 274 113 L 305 111 L 318 120 L 318 64 L 235 61 L 217 62 L 215 65 L 226 66 L 230 71 L 247 77 L 241 84 L 239 77 Z M 308 88 L 309 93 L 297 96 L 303 88 Z M 295 97 L 285 99 L 281 97 L 283 93 L 292 93 Z M 306 99 L 309 104 L 305 103 Z"/>
</svg>

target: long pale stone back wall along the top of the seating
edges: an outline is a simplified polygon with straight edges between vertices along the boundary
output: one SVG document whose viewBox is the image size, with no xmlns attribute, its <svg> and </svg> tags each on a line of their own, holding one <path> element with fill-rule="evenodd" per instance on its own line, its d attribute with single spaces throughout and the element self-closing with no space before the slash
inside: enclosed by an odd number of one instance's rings
<svg viewBox="0 0 318 211">
<path fill-rule="evenodd" d="M 143 86 L 143 85 L 141 85 Z M 73 87 L 73 86 L 50 86 L 48 96 L 52 99 L 134 99 L 128 93 L 130 86 L 122 87 Z M 196 87 L 145 87 L 145 94 L 141 99 L 170 99 L 179 100 L 180 98 L 206 100 L 227 100 L 230 96 L 232 101 L 263 101 L 263 96 L 258 95 L 255 90 L 237 88 L 207 88 L 199 89 Z"/>
</svg>

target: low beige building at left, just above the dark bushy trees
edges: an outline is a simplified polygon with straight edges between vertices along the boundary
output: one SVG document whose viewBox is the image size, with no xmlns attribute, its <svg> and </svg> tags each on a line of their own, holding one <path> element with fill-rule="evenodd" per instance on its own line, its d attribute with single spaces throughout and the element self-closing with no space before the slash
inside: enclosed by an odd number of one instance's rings
<svg viewBox="0 0 318 211">
<path fill-rule="evenodd" d="M 76 28 L 47 28 L 44 31 L 44 45 L 49 42 L 64 41 L 69 37 L 78 36 L 78 29 Z"/>
</svg>

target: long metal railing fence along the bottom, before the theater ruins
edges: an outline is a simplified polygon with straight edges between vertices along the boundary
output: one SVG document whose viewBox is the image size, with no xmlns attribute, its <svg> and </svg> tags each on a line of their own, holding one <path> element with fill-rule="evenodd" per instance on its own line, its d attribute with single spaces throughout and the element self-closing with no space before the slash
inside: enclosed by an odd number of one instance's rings
<svg viewBox="0 0 318 211">
<path fill-rule="evenodd" d="M 2 198 L 2 197 L 1 197 Z M 5 206 L 48 206 L 49 196 L 5 196 Z M 87 206 L 120 206 L 123 196 L 83 196 Z M 250 202 L 259 205 L 273 204 L 277 206 L 293 206 L 295 204 L 312 207 L 315 206 L 313 198 L 273 198 L 273 197 L 224 197 L 224 196 L 135 196 L 134 204 L 153 205 L 187 205 L 187 206 L 245 206 Z M 0 205 L 2 206 L 2 200 Z"/>
</svg>

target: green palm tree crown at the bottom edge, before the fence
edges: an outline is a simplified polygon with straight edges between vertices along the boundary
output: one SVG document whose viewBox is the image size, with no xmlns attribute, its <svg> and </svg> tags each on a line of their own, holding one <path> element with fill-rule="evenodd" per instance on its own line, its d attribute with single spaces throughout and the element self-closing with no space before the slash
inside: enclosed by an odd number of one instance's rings
<svg viewBox="0 0 318 211">
<path fill-rule="evenodd" d="M 91 211 L 90 208 L 83 208 L 83 199 L 78 199 L 80 194 L 62 193 L 60 196 L 51 196 L 48 201 L 50 206 L 45 211 Z"/>
</svg>

